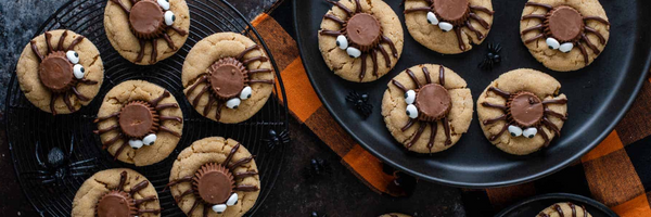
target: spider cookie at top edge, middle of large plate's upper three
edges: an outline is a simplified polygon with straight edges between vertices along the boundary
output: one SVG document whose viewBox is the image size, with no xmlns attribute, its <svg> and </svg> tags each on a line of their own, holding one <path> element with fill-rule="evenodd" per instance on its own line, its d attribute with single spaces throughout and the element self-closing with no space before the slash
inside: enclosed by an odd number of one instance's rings
<svg viewBox="0 0 651 217">
<path fill-rule="evenodd" d="M 480 44 L 493 24 L 490 0 L 403 0 L 405 23 L 416 41 L 430 50 L 456 54 Z M 454 33 L 450 33 L 454 31 Z"/>
</svg>

